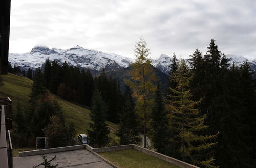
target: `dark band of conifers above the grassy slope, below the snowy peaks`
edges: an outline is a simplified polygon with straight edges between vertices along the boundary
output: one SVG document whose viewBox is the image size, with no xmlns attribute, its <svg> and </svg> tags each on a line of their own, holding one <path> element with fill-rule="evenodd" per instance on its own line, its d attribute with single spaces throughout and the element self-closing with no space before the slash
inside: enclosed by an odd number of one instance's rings
<svg viewBox="0 0 256 168">
<path fill-rule="evenodd" d="M 89 70 L 80 71 L 78 67 L 68 66 L 66 62 L 59 65 L 57 61 L 51 63 L 47 59 L 44 80 L 45 87 L 52 93 L 89 107 L 91 107 L 93 91 L 98 89 L 108 106 L 107 120 L 119 123 L 123 94 L 119 83 L 114 78 L 106 76 L 104 70 L 98 77 L 93 77 Z"/>
</svg>

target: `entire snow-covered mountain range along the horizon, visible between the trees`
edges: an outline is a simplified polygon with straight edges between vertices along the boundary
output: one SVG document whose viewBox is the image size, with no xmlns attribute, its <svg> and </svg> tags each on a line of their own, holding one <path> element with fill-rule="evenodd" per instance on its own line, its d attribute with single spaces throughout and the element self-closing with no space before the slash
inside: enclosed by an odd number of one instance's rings
<svg viewBox="0 0 256 168">
<path fill-rule="evenodd" d="M 117 54 L 109 54 L 96 50 L 85 49 L 81 46 L 75 46 L 70 49 L 48 48 L 46 46 L 36 46 L 27 53 L 10 53 L 9 62 L 19 66 L 22 70 L 28 68 L 44 68 L 45 60 L 58 61 L 60 64 L 67 62 L 68 65 L 78 66 L 80 69 L 89 69 L 93 74 L 97 74 L 104 68 L 105 71 L 120 70 L 129 67 L 135 60 L 129 57 L 123 57 Z M 256 59 L 248 60 L 243 56 L 227 55 L 230 63 L 234 62 L 241 65 L 248 61 L 251 68 L 256 70 Z M 172 58 L 161 54 L 158 59 L 153 59 L 152 65 L 167 74 L 170 70 Z"/>
</svg>

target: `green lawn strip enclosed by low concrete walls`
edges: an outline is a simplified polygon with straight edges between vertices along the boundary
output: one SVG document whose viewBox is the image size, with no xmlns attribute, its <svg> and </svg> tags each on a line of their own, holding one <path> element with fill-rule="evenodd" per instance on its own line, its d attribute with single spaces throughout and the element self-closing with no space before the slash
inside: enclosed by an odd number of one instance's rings
<svg viewBox="0 0 256 168">
<path fill-rule="evenodd" d="M 173 164 L 170 164 L 164 160 L 155 158 L 145 153 L 136 150 L 122 150 L 122 151 L 110 151 L 102 152 L 99 155 L 108 159 L 112 163 L 123 168 L 132 167 L 172 167 L 176 168 Z"/>
</svg>

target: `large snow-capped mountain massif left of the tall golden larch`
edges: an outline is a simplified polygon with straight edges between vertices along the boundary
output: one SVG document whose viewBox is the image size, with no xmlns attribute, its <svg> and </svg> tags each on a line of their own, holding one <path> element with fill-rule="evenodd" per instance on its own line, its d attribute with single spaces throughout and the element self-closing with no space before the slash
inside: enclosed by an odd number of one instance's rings
<svg viewBox="0 0 256 168">
<path fill-rule="evenodd" d="M 49 58 L 50 61 L 58 61 L 60 64 L 66 61 L 68 65 L 96 71 L 100 71 L 102 68 L 105 70 L 126 68 L 133 62 L 133 60 L 128 57 L 89 50 L 80 46 L 75 46 L 67 50 L 36 46 L 27 53 L 9 54 L 9 62 L 12 66 L 16 64 L 22 69 L 42 67 L 47 58 Z"/>
</svg>

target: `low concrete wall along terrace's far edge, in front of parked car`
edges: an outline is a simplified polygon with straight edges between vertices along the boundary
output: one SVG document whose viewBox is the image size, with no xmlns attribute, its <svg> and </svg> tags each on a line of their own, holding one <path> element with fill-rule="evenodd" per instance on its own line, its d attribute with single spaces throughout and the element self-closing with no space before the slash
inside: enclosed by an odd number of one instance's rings
<svg viewBox="0 0 256 168">
<path fill-rule="evenodd" d="M 67 146 L 67 147 L 58 147 L 58 148 L 50 148 L 50 149 L 41 149 L 41 150 L 34 150 L 34 151 L 25 151 L 19 152 L 19 156 L 31 156 L 31 155 L 42 155 L 47 153 L 55 153 L 55 152 L 63 152 L 63 151 L 73 151 L 78 149 L 84 149 L 86 145 L 74 145 L 74 146 Z"/>
</svg>

